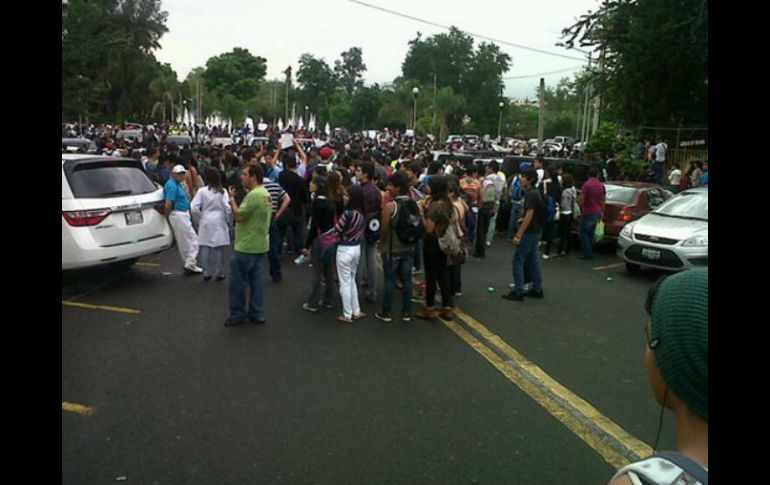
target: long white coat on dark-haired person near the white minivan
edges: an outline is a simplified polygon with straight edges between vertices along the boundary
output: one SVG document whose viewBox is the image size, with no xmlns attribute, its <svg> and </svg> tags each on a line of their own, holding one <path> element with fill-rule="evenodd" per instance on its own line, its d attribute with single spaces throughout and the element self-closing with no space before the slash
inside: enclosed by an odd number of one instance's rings
<svg viewBox="0 0 770 485">
<path fill-rule="evenodd" d="M 202 188 L 190 203 L 190 212 L 199 221 L 198 244 L 209 247 L 230 245 L 227 221 L 232 214 L 232 208 L 227 191 L 220 194 L 209 190 L 208 186 Z"/>
</svg>

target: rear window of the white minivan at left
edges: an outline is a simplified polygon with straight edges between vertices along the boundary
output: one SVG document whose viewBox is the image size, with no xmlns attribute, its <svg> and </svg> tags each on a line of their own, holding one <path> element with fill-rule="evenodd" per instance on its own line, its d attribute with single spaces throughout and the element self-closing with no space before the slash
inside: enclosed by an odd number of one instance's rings
<svg viewBox="0 0 770 485">
<path fill-rule="evenodd" d="M 136 160 L 69 161 L 64 164 L 76 199 L 123 197 L 157 190 Z"/>
</svg>

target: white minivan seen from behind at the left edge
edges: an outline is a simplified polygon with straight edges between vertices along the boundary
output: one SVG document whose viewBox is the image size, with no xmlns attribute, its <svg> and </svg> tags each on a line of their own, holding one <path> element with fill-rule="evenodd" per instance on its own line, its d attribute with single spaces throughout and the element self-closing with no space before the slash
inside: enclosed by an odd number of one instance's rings
<svg viewBox="0 0 770 485">
<path fill-rule="evenodd" d="M 174 242 L 163 187 L 138 160 L 62 154 L 62 270 L 130 266 Z"/>
</svg>

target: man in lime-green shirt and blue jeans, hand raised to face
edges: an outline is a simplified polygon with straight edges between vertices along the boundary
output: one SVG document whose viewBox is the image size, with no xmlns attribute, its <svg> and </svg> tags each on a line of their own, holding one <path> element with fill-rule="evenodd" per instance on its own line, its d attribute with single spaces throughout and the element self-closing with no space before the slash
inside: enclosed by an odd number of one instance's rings
<svg viewBox="0 0 770 485">
<path fill-rule="evenodd" d="M 230 187 L 235 218 L 235 251 L 230 260 L 230 317 L 225 326 L 265 323 L 265 257 L 270 249 L 270 194 L 262 186 L 264 174 L 257 164 L 241 170 L 241 185 L 249 192 L 239 206 Z M 246 299 L 247 288 L 250 292 Z M 248 301 L 248 304 L 247 304 Z"/>
</svg>

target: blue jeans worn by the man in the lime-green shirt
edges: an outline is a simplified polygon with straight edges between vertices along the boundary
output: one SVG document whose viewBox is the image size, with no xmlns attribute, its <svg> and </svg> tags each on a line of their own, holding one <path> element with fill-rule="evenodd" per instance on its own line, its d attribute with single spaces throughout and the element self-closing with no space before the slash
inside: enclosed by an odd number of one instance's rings
<svg viewBox="0 0 770 485">
<path fill-rule="evenodd" d="M 265 319 L 265 253 L 233 251 L 230 259 L 230 317 Z M 246 300 L 246 290 L 249 299 Z"/>
</svg>

